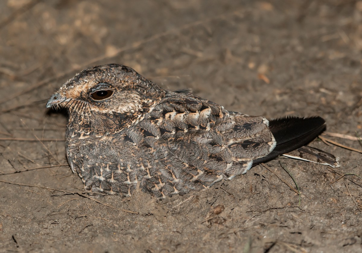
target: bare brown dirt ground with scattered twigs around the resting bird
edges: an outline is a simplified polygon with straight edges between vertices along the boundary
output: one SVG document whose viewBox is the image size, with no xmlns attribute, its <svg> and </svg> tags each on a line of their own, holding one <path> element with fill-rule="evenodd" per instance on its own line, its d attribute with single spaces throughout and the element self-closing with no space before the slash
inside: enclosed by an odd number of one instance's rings
<svg viewBox="0 0 362 253">
<path fill-rule="evenodd" d="M 340 168 L 279 158 L 163 201 L 99 197 L 45 103 L 119 63 L 228 110 L 362 136 L 362 1 L 0 1 L 0 55 L 0 252 L 361 252 L 360 153 L 317 139 Z"/>
</svg>

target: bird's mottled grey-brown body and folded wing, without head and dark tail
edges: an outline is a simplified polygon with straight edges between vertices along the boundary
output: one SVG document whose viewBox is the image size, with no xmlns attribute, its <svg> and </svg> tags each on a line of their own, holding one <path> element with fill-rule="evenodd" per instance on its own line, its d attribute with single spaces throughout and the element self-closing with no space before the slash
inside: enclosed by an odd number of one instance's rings
<svg viewBox="0 0 362 253">
<path fill-rule="evenodd" d="M 131 196 L 139 184 L 157 197 L 184 194 L 245 173 L 273 149 L 268 121 L 245 116 L 167 92 L 137 124 L 111 135 L 84 138 L 81 125 L 70 124 L 67 153 L 87 189 Z"/>
</svg>

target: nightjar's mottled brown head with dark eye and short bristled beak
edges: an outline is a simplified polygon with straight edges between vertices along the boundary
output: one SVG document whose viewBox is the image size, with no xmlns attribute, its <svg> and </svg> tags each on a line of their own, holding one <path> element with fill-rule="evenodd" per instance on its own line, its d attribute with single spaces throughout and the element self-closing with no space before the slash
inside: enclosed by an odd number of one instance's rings
<svg viewBox="0 0 362 253">
<path fill-rule="evenodd" d="M 112 123 L 138 121 L 164 94 L 163 89 L 135 70 L 107 64 L 83 70 L 68 80 L 46 106 L 66 108 L 72 124 L 98 128 L 105 124 L 109 128 Z"/>
</svg>

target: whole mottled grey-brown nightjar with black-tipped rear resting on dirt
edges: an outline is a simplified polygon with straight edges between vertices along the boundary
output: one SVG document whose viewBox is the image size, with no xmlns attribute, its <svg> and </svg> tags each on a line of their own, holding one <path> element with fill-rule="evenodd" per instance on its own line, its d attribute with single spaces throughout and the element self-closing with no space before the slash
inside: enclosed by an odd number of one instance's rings
<svg viewBox="0 0 362 253">
<path fill-rule="evenodd" d="M 324 130 L 321 117 L 269 121 L 230 112 L 122 65 L 77 74 L 52 95 L 52 106 L 69 112 L 68 162 L 94 192 L 184 194 L 283 154 L 338 166 L 333 155 L 303 146 Z"/>
</svg>

